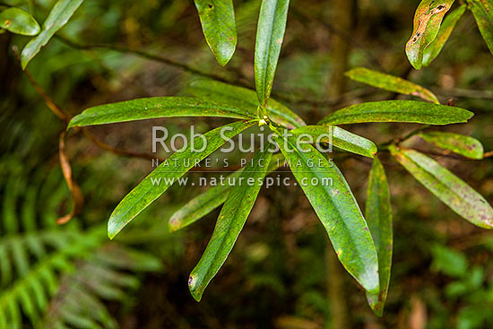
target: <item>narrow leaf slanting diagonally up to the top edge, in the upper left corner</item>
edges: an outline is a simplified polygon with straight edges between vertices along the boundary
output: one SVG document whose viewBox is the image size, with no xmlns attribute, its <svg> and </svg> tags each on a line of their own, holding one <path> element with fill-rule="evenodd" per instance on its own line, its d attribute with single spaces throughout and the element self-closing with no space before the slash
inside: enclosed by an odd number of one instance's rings
<svg viewBox="0 0 493 329">
<path fill-rule="evenodd" d="M 30 60 L 39 53 L 41 48 L 48 44 L 57 30 L 65 26 L 70 17 L 75 13 L 83 0 L 58 0 L 53 9 L 48 14 L 47 20 L 43 23 L 41 33 L 22 49 L 21 64 L 22 70 L 26 68 Z"/>
</svg>

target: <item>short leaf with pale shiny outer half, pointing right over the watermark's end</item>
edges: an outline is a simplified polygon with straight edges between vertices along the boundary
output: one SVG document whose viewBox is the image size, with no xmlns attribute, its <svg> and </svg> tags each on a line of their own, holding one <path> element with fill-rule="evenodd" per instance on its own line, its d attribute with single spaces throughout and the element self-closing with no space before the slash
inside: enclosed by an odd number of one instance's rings
<svg viewBox="0 0 493 329">
<path fill-rule="evenodd" d="M 338 126 L 304 126 L 292 130 L 291 133 L 297 136 L 307 134 L 312 137 L 314 142 L 330 143 L 344 151 L 353 152 L 368 158 L 375 157 L 377 152 L 375 143 Z"/>
</svg>

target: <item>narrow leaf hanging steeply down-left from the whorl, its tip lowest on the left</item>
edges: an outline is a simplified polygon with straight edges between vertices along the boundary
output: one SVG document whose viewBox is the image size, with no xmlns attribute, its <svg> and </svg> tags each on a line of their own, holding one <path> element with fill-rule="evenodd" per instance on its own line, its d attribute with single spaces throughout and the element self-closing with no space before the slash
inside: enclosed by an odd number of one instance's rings
<svg viewBox="0 0 493 329">
<path fill-rule="evenodd" d="M 211 240 L 199 263 L 190 273 L 188 288 L 195 300 L 202 299 L 203 290 L 219 272 L 233 249 L 264 183 L 264 176 L 271 159 L 272 152 L 257 152 L 254 159 L 240 174 L 239 179 L 242 180 L 238 180 L 237 184 L 231 188 L 212 232 Z"/>
</svg>

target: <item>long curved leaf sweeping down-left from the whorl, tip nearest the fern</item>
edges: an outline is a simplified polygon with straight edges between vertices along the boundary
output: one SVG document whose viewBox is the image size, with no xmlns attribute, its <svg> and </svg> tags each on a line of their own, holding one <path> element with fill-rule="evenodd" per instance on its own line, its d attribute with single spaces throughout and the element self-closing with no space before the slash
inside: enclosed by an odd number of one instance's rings
<svg viewBox="0 0 493 329">
<path fill-rule="evenodd" d="M 154 169 L 117 205 L 108 221 L 108 237 L 115 238 L 129 221 L 166 192 L 169 186 L 192 169 L 197 161 L 203 160 L 230 138 L 253 124 L 253 122 L 235 122 L 221 126 L 203 134 L 205 140 L 201 136 L 195 137 L 184 152 L 173 153 L 168 161 L 164 161 Z"/>
</svg>

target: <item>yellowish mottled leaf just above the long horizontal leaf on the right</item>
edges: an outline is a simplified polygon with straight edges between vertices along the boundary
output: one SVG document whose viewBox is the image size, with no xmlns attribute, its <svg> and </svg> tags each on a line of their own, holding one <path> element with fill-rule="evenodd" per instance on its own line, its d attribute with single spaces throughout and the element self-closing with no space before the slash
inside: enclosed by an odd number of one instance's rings
<svg viewBox="0 0 493 329">
<path fill-rule="evenodd" d="M 368 70 L 368 68 L 364 67 L 352 69 L 349 72 L 346 72 L 346 75 L 351 80 L 366 83 L 370 86 L 380 88 L 385 91 L 393 91 L 404 95 L 417 96 L 423 100 L 440 104 L 440 101 L 438 101 L 437 96 L 435 96 L 433 92 L 398 76 L 383 74 L 378 71 Z"/>
</svg>

